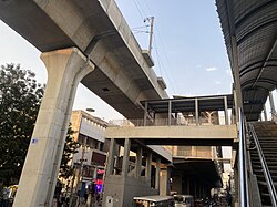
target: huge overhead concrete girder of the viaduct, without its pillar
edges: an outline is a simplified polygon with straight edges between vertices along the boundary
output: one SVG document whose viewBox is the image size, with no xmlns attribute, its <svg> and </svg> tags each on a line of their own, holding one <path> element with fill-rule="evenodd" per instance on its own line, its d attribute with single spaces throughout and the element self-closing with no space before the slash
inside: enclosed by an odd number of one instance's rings
<svg viewBox="0 0 277 207">
<path fill-rule="evenodd" d="M 113 0 L 1 1 L 0 19 L 42 52 L 84 53 L 96 37 L 89 54 L 102 81 L 91 74 L 82 83 L 129 118 L 143 116 L 140 101 L 167 97 Z"/>
</svg>

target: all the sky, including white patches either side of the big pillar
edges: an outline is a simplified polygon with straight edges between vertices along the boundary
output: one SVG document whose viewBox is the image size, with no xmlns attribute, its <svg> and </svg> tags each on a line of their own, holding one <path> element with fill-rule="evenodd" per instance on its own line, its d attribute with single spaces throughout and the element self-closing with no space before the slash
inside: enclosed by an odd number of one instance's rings
<svg viewBox="0 0 277 207">
<path fill-rule="evenodd" d="M 148 22 L 154 17 L 154 70 L 164 77 L 170 95 L 230 93 L 232 74 L 219 19 L 213 0 L 116 0 L 142 49 L 148 46 Z M 144 27 L 144 28 L 141 28 Z M 0 64 L 20 63 L 47 82 L 40 51 L 0 21 Z M 89 99 L 88 99 L 89 97 Z M 121 115 L 80 85 L 74 110 L 95 108 L 105 120 Z"/>
</svg>

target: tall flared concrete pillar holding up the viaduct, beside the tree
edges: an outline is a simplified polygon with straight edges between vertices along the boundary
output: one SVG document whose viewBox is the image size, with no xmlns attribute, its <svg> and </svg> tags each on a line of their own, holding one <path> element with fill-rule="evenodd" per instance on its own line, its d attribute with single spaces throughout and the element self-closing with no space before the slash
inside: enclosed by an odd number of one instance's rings
<svg viewBox="0 0 277 207">
<path fill-rule="evenodd" d="M 41 55 L 48 83 L 13 206 L 52 206 L 58 170 L 79 82 L 94 65 L 75 48 Z"/>
</svg>

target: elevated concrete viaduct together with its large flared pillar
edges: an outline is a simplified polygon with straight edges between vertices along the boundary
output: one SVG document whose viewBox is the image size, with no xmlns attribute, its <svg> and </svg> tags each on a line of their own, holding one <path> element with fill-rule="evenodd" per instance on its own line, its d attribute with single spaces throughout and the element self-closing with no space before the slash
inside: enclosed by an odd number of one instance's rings
<svg viewBox="0 0 277 207">
<path fill-rule="evenodd" d="M 42 52 L 48 70 L 14 206 L 51 206 L 80 82 L 127 118 L 143 117 L 140 101 L 168 96 L 114 0 L 0 1 L 0 19 Z"/>
</svg>

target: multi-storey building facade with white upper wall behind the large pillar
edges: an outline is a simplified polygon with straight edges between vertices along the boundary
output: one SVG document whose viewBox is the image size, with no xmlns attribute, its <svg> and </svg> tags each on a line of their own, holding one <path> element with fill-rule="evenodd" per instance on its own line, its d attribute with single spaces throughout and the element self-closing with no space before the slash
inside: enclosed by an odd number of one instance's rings
<svg viewBox="0 0 277 207">
<path fill-rule="evenodd" d="M 106 159 L 104 133 L 107 123 L 88 112 L 72 111 L 71 124 L 74 141 L 80 144 L 71 162 L 74 168 L 72 192 L 79 197 L 102 193 Z"/>
</svg>

